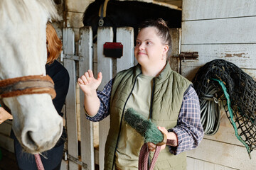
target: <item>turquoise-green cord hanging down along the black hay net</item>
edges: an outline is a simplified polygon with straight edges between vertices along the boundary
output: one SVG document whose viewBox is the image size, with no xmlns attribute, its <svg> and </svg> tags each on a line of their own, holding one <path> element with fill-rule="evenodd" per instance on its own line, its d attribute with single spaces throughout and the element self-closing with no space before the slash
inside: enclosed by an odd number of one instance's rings
<svg viewBox="0 0 256 170">
<path fill-rule="evenodd" d="M 228 94 L 228 92 L 227 92 L 227 89 L 226 89 L 225 85 L 223 84 L 223 81 L 220 81 L 220 80 L 218 80 L 218 79 L 213 79 L 213 80 L 214 80 L 214 81 L 218 81 L 218 83 L 220 84 L 221 88 L 223 89 L 223 92 L 224 92 L 224 94 L 225 94 L 225 98 L 227 99 L 227 103 L 228 103 L 228 112 L 229 112 L 229 114 L 230 114 L 231 123 L 232 123 L 232 125 L 233 125 L 234 130 L 235 130 L 235 136 L 238 138 L 238 140 L 240 140 L 240 142 L 242 142 L 243 145 L 245 145 L 245 147 L 246 147 L 246 149 L 247 149 L 247 152 L 248 152 L 248 154 L 249 154 L 249 157 L 250 157 L 250 159 L 252 159 L 252 157 L 251 157 L 251 155 L 250 155 L 250 148 L 249 148 L 249 146 L 247 145 L 247 143 L 245 143 L 245 141 L 242 140 L 242 137 L 240 137 L 240 135 L 238 134 L 238 128 L 237 128 L 237 126 L 235 125 L 235 122 L 234 122 L 234 120 L 233 120 L 234 115 L 233 115 L 232 108 L 231 108 L 231 106 L 230 106 L 230 97 L 229 97 L 229 94 Z"/>
</svg>

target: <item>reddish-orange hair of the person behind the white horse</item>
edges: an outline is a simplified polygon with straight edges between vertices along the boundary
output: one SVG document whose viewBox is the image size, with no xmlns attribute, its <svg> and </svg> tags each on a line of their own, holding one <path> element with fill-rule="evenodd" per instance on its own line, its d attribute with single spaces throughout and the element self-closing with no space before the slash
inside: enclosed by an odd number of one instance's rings
<svg viewBox="0 0 256 170">
<path fill-rule="evenodd" d="M 47 47 L 47 64 L 56 60 L 62 49 L 62 42 L 56 33 L 55 28 L 50 23 L 46 26 L 46 47 Z"/>
</svg>

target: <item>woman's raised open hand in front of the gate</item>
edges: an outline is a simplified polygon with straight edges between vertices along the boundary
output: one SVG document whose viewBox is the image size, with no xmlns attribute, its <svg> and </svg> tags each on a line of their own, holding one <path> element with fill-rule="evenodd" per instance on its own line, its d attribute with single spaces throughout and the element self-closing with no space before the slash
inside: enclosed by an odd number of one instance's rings
<svg viewBox="0 0 256 170">
<path fill-rule="evenodd" d="M 93 92 L 96 91 L 98 86 L 100 86 L 100 83 L 102 81 L 102 73 L 99 72 L 97 74 L 97 79 L 93 77 L 92 70 L 88 70 L 85 72 L 82 77 L 78 78 L 78 84 L 80 86 L 80 89 L 85 93 L 85 95 L 91 95 Z"/>
</svg>

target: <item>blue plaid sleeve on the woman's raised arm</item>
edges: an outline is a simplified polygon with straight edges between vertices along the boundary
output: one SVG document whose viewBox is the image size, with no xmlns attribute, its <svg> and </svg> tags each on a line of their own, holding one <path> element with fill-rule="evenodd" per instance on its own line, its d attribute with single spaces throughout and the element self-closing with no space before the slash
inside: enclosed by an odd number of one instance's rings
<svg viewBox="0 0 256 170">
<path fill-rule="evenodd" d="M 97 96 L 100 99 L 100 109 L 97 114 L 93 117 L 87 115 L 86 118 L 92 122 L 99 122 L 100 120 L 110 115 L 110 94 L 112 90 L 114 79 L 111 79 L 104 87 L 102 91 L 97 91 Z"/>
</svg>

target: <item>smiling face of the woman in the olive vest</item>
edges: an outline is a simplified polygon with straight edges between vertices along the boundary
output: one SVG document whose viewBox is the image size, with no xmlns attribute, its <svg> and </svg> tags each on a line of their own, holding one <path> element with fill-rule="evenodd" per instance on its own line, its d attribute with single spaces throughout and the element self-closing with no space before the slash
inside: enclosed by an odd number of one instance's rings
<svg viewBox="0 0 256 170">
<path fill-rule="evenodd" d="M 163 45 L 161 38 L 156 34 L 156 28 L 147 27 L 139 31 L 134 55 L 142 67 L 154 66 L 166 62 L 168 45 Z"/>
</svg>

